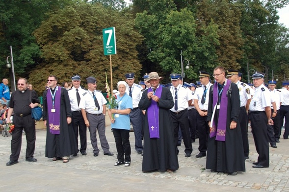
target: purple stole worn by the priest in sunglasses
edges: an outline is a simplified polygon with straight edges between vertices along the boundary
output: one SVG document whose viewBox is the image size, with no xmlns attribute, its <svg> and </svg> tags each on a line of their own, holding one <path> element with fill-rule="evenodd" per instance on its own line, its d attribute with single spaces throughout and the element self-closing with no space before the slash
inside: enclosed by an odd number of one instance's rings
<svg viewBox="0 0 289 192">
<path fill-rule="evenodd" d="M 61 87 L 55 87 L 55 97 L 54 97 L 54 109 L 55 112 L 52 112 L 53 102 L 51 90 L 47 90 L 47 110 L 48 110 L 48 123 L 49 131 L 51 134 L 59 135 L 60 134 L 60 97 L 61 97 Z"/>
</svg>

